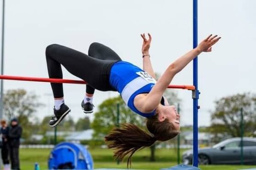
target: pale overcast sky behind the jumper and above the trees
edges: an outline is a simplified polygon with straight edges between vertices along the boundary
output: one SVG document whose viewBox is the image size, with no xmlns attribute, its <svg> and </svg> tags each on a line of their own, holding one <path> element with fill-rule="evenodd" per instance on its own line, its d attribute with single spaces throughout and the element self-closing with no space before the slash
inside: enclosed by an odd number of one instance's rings
<svg viewBox="0 0 256 170">
<path fill-rule="evenodd" d="M 210 124 L 214 101 L 224 96 L 256 92 L 256 0 L 198 0 L 198 40 L 222 37 L 211 53 L 198 57 L 201 91 L 198 125 Z M 1 10 L 1 9 L 0 9 Z M 2 13 L 2 11 L 0 11 Z M 192 49 L 192 0 L 5 0 L 4 74 L 48 77 L 45 48 L 52 43 L 87 53 L 93 42 L 112 48 L 142 67 L 141 33 L 150 32 L 153 69 L 164 70 Z M 192 63 L 171 84 L 192 85 Z M 65 79 L 78 79 L 63 69 Z M 45 104 L 35 116 L 53 114 L 49 83 L 4 81 L 4 90 L 25 89 Z M 181 126 L 192 125 L 191 91 L 175 90 L 182 100 Z M 75 120 L 84 117 L 84 85 L 64 85 L 65 103 Z M 117 92 L 97 91 L 97 106 Z M 93 115 L 90 115 L 93 119 Z"/>
</svg>

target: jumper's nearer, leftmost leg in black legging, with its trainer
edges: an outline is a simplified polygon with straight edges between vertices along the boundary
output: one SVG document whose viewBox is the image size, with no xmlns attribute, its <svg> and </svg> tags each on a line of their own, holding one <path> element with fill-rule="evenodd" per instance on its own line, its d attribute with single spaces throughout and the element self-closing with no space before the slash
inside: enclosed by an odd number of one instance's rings
<svg viewBox="0 0 256 170">
<path fill-rule="evenodd" d="M 84 53 L 57 44 L 49 45 L 46 48 L 46 60 L 49 78 L 62 78 L 60 66 L 62 64 L 71 74 L 87 81 L 93 88 L 102 91 L 114 90 L 109 85 L 109 73 L 111 66 L 114 64 L 113 61 L 92 58 Z M 51 83 L 51 86 L 54 98 L 63 100 L 62 84 Z M 70 109 L 63 102 L 60 111 L 55 111 L 55 117 L 50 123 L 51 126 L 56 126 Z M 58 112 L 60 113 L 58 114 Z"/>
</svg>

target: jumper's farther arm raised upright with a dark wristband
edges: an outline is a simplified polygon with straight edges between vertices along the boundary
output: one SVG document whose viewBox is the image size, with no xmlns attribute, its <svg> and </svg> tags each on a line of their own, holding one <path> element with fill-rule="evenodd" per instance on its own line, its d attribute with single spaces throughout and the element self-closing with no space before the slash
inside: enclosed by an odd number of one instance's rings
<svg viewBox="0 0 256 170">
<path fill-rule="evenodd" d="M 149 48 L 151 43 L 151 35 L 148 33 L 148 40 L 145 36 L 145 34 L 141 34 L 143 38 L 142 43 L 142 60 L 143 60 L 143 70 L 146 71 L 148 74 L 150 74 L 154 79 L 156 79 L 156 75 L 154 73 L 151 61 L 150 61 L 150 55 L 149 55 Z"/>
</svg>

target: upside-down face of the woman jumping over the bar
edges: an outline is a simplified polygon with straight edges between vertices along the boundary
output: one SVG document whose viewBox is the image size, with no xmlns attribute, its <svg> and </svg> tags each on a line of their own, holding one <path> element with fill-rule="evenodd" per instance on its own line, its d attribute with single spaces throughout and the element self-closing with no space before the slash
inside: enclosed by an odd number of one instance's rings
<svg viewBox="0 0 256 170">
<path fill-rule="evenodd" d="M 175 106 L 162 106 L 158 111 L 160 122 L 168 119 L 174 125 L 175 129 L 180 130 L 180 114 L 177 112 Z"/>
</svg>

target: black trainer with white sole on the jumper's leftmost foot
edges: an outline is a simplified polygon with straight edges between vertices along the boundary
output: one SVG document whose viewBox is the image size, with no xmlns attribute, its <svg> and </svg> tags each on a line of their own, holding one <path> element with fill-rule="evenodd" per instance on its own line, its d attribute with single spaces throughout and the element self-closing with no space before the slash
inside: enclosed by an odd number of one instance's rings
<svg viewBox="0 0 256 170">
<path fill-rule="evenodd" d="M 65 105 L 65 103 L 63 103 L 60 106 L 59 110 L 56 110 L 55 108 L 53 110 L 54 116 L 49 122 L 49 125 L 51 127 L 57 126 L 62 121 L 62 119 L 71 111 L 70 108 L 67 105 Z"/>
</svg>

